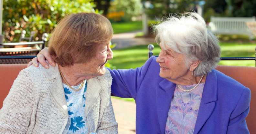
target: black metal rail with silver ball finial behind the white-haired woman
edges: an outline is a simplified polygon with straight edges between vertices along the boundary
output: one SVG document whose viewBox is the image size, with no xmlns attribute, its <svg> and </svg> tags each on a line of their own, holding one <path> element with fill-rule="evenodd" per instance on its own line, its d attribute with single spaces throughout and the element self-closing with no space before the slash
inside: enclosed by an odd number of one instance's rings
<svg viewBox="0 0 256 134">
<path fill-rule="evenodd" d="M 149 44 L 148 45 L 148 58 L 150 58 L 151 56 L 155 56 L 158 57 L 158 55 L 154 55 L 153 50 L 154 50 L 154 45 L 153 44 Z M 256 47 L 255 47 L 255 51 L 256 51 Z M 255 67 L 256 67 L 256 53 L 255 53 L 255 57 L 220 57 L 221 61 L 244 61 L 244 60 L 254 60 L 255 61 Z"/>
</svg>

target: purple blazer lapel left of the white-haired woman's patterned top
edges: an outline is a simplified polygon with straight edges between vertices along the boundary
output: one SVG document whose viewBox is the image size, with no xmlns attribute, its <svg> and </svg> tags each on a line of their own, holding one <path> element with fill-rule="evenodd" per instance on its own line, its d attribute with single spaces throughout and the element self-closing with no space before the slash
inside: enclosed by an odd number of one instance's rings
<svg viewBox="0 0 256 134">
<path fill-rule="evenodd" d="M 165 133 L 165 125 L 176 84 L 164 79 L 156 90 L 157 116 L 161 133 Z"/>
</svg>

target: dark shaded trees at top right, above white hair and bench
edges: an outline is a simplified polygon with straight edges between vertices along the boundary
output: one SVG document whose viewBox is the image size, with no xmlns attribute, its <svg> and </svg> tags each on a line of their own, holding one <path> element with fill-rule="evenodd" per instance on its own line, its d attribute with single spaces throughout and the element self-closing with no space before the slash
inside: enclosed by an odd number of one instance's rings
<svg viewBox="0 0 256 134">
<path fill-rule="evenodd" d="M 150 19 L 160 20 L 174 13 L 197 11 L 201 0 L 141 0 Z M 207 22 L 210 16 L 252 17 L 256 16 L 255 0 L 205 0 L 203 16 Z"/>
</svg>

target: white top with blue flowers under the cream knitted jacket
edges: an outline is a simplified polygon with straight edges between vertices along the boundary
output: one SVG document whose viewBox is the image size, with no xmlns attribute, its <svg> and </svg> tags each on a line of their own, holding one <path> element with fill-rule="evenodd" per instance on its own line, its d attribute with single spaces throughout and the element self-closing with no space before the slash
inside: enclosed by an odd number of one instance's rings
<svg viewBox="0 0 256 134">
<path fill-rule="evenodd" d="M 77 89 L 78 86 L 72 86 Z M 87 119 L 85 117 L 85 99 L 86 99 L 86 90 L 87 82 L 83 85 L 80 91 L 74 91 L 69 88 L 68 85 L 63 83 L 65 98 L 67 101 L 68 112 L 69 112 L 69 121 L 66 125 L 63 134 L 88 134 Z"/>
</svg>

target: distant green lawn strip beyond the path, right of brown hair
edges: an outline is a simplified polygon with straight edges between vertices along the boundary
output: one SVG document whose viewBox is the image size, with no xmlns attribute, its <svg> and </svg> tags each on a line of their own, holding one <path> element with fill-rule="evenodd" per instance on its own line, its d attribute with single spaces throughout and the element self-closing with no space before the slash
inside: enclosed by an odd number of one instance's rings
<svg viewBox="0 0 256 134">
<path fill-rule="evenodd" d="M 112 27 L 114 30 L 114 34 L 127 33 L 131 31 L 142 30 L 142 22 L 134 21 L 134 22 L 112 23 Z"/>
</svg>

